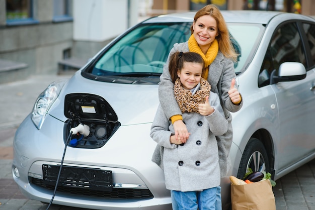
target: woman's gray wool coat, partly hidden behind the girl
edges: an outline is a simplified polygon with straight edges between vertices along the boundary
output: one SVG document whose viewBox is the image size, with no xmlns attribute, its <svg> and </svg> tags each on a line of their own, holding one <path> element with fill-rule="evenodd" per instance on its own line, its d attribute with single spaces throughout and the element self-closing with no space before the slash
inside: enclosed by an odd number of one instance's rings
<svg viewBox="0 0 315 210">
<path fill-rule="evenodd" d="M 176 51 L 189 52 L 188 42 L 176 43 L 170 51 L 170 55 Z M 166 116 L 170 119 L 172 116 L 182 115 L 182 113 L 174 96 L 174 83 L 172 82 L 168 69 L 169 58 L 170 56 L 168 57 L 167 63 L 164 65 L 163 74 L 160 77 L 159 99 Z M 231 80 L 235 77 L 236 75 L 232 60 L 224 57 L 223 53 L 219 51 L 214 61 L 209 65 L 208 82 L 211 85 L 211 91 L 219 95 L 225 118 L 229 122 L 228 131 L 225 134 L 216 137 L 219 150 L 221 177 L 226 175 L 230 167 L 228 154 L 232 144 L 233 132 L 231 125 L 232 117 L 229 112 L 237 112 L 243 106 L 243 100 L 239 105 L 234 105 L 228 96 Z M 158 145 L 153 153 L 152 161 L 163 168 L 162 159 L 163 148 L 160 148 Z"/>
</svg>

